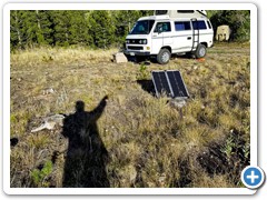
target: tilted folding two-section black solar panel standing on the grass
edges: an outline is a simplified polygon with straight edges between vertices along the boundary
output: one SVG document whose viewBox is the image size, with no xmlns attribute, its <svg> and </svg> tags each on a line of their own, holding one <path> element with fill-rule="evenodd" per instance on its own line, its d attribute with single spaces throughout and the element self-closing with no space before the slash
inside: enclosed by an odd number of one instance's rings
<svg viewBox="0 0 267 200">
<path fill-rule="evenodd" d="M 157 97 L 166 92 L 167 97 L 186 99 L 189 97 L 185 82 L 179 71 L 152 71 L 152 82 Z"/>
</svg>

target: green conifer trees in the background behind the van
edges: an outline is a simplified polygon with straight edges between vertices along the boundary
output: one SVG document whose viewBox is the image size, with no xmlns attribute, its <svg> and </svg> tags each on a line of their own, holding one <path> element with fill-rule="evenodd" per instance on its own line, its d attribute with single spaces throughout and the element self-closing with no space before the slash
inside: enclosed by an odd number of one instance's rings
<svg viewBox="0 0 267 200">
<path fill-rule="evenodd" d="M 249 11 L 207 11 L 214 29 L 229 24 L 233 40 L 249 40 Z M 12 10 L 10 47 L 119 47 L 138 18 L 152 10 Z"/>
</svg>

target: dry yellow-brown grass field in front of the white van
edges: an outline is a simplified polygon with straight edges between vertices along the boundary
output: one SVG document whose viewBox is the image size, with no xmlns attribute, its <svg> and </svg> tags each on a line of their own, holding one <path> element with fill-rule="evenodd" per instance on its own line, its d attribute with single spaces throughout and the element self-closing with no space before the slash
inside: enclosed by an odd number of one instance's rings
<svg viewBox="0 0 267 200">
<path fill-rule="evenodd" d="M 243 187 L 250 161 L 249 44 L 216 44 L 205 61 L 177 57 L 167 66 L 113 63 L 116 51 L 11 54 L 10 132 L 18 139 L 11 187 Z M 181 72 L 190 94 L 181 109 L 151 92 L 150 71 L 170 69 Z M 93 137 L 72 141 L 80 147 L 70 148 L 66 127 L 31 132 L 48 116 L 75 113 L 79 100 L 87 111 L 103 104 L 100 118 L 90 118 Z"/>
</svg>

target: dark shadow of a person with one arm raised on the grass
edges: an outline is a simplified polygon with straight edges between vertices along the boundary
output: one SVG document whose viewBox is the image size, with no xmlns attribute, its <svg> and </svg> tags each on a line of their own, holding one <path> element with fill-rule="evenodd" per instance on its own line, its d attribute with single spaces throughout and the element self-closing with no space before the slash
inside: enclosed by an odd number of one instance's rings
<svg viewBox="0 0 267 200">
<path fill-rule="evenodd" d="M 103 97 L 90 112 L 85 111 L 83 101 L 77 101 L 76 112 L 65 118 L 62 134 L 69 140 L 62 180 L 65 188 L 110 187 L 106 171 L 108 151 L 97 126 L 107 99 Z"/>
</svg>

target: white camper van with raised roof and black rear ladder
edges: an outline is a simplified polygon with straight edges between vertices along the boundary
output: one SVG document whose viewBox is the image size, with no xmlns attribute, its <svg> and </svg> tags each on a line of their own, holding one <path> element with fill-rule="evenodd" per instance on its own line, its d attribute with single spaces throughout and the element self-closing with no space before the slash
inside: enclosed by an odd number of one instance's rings
<svg viewBox="0 0 267 200">
<path fill-rule="evenodd" d="M 204 10 L 156 10 L 136 22 L 126 38 L 125 54 L 156 57 L 166 64 L 175 53 L 204 58 L 212 43 L 212 26 Z"/>
</svg>

